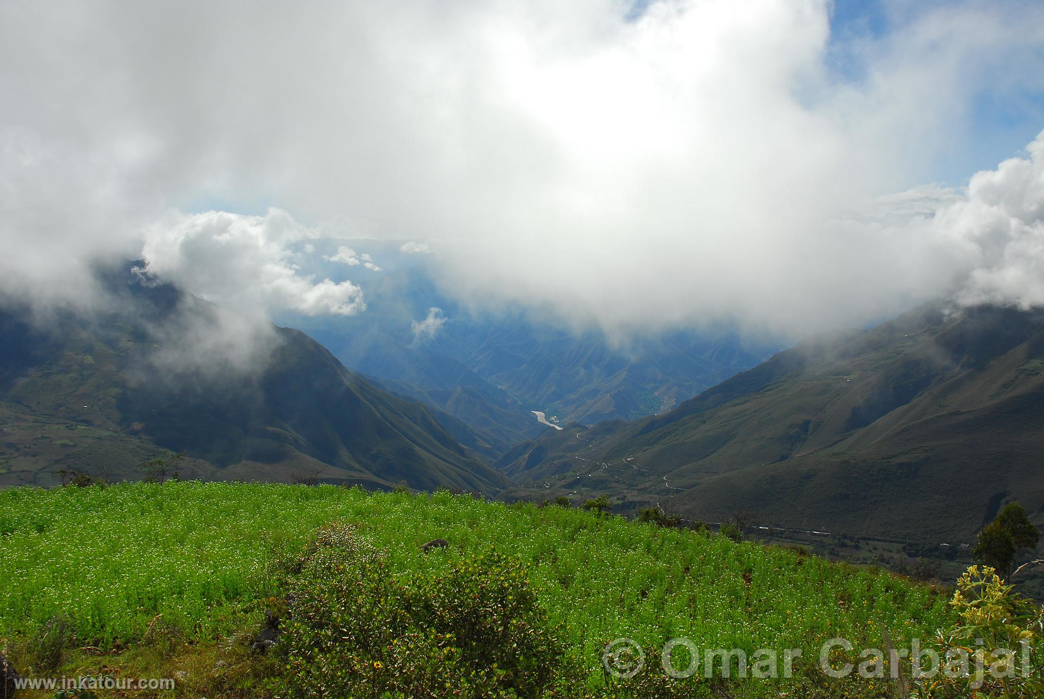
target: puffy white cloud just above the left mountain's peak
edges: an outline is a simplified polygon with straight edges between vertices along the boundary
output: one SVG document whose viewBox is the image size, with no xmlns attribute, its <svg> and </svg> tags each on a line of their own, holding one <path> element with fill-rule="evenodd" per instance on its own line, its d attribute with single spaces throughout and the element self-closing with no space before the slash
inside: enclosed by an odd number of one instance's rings
<svg viewBox="0 0 1044 699">
<path fill-rule="evenodd" d="M 299 274 L 290 246 L 316 236 L 279 209 L 172 214 L 146 230 L 142 257 L 149 275 L 239 310 L 350 316 L 365 308 L 351 282 Z"/>
</svg>

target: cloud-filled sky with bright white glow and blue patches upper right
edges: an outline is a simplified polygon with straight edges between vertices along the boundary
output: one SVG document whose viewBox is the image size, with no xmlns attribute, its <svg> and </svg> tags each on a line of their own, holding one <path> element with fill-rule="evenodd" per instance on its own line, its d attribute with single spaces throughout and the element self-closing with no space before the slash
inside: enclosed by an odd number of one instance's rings
<svg viewBox="0 0 1044 699">
<path fill-rule="evenodd" d="M 0 297 L 103 304 L 123 258 L 243 312 L 367 312 L 380 260 L 302 251 L 371 237 L 617 334 L 1031 307 L 1042 95 L 1039 2 L 8 0 Z"/>
</svg>

